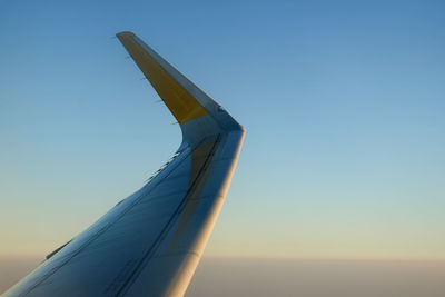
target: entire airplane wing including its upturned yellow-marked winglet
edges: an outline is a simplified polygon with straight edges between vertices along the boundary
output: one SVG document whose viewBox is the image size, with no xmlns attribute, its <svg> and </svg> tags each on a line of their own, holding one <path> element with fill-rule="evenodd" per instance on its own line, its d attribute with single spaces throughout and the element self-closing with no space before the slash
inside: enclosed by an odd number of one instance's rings
<svg viewBox="0 0 445 297">
<path fill-rule="evenodd" d="M 138 191 L 47 256 L 12 296 L 182 296 L 226 197 L 244 128 L 132 32 L 117 34 L 182 142 Z"/>
</svg>

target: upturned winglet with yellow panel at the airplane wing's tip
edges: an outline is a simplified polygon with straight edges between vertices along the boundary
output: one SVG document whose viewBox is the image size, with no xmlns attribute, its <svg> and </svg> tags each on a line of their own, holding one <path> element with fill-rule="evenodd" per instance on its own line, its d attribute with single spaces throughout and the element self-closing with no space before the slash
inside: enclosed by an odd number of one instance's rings
<svg viewBox="0 0 445 297">
<path fill-rule="evenodd" d="M 206 135 L 244 130 L 217 102 L 135 33 L 123 31 L 116 36 L 181 126 L 185 141 L 190 143 Z"/>
</svg>

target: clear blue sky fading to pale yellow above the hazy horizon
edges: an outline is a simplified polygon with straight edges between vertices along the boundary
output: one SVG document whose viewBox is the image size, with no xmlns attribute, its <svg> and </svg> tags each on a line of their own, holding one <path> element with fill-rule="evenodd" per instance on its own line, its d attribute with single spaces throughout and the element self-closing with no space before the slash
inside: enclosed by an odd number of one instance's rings
<svg viewBox="0 0 445 297">
<path fill-rule="evenodd" d="M 43 256 L 180 130 L 131 30 L 246 127 L 206 257 L 445 258 L 444 1 L 0 1 L 0 255 Z"/>
</svg>

